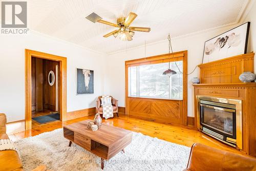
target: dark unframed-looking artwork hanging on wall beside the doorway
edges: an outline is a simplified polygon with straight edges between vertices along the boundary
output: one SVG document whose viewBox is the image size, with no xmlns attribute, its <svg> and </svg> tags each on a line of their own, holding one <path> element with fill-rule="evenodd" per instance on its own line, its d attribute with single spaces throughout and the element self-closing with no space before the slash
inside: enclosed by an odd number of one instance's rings
<svg viewBox="0 0 256 171">
<path fill-rule="evenodd" d="M 94 71 L 86 69 L 76 69 L 76 94 L 94 93 Z"/>
</svg>

